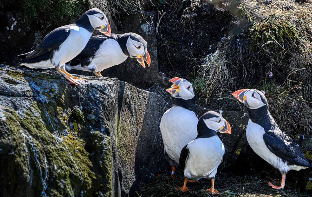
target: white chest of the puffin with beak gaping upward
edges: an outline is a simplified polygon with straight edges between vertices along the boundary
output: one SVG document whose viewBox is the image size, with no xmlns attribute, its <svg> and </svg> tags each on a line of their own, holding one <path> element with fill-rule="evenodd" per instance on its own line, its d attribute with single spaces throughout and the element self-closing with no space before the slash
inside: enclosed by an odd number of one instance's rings
<svg viewBox="0 0 312 197">
<path fill-rule="evenodd" d="M 163 145 L 168 156 L 179 164 L 182 148 L 197 137 L 198 118 L 182 107 L 168 109 L 160 121 Z"/>
</svg>

